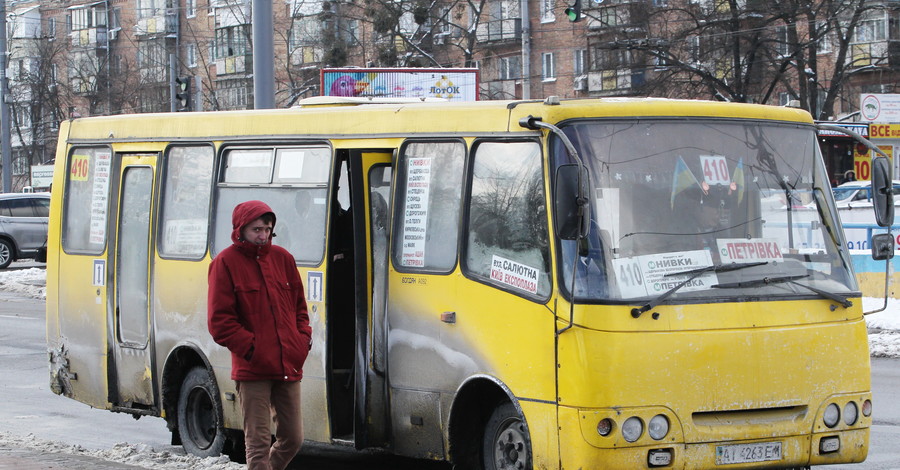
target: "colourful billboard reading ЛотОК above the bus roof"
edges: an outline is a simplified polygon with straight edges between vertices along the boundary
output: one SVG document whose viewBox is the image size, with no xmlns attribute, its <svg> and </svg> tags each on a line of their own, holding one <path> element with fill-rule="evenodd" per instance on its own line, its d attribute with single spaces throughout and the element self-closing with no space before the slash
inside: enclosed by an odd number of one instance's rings
<svg viewBox="0 0 900 470">
<path fill-rule="evenodd" d="M 322 96 L 478 99 L 478 69 L 322 69 Z"/>
</svg>

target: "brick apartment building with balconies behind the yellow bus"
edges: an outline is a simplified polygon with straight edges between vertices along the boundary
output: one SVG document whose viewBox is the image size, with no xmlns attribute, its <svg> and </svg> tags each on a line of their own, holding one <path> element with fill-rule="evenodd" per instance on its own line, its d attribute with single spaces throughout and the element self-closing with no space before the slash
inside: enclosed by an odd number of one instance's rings
<svg viewBox="0 0 900 470">
<path fill-rule="evenodd" d="M 480 99 L 799 103 L 819 119 L 895 91 L 898 2 L 581 1 L 571 21 L 575 0 L 273 0 L 276 105 L 320 94 L 326 66 L 477 67 Z M 8 0 L 15 172 L 53 158 L 68 117 L 252 108 L 251 4 Z"/>
</svg>

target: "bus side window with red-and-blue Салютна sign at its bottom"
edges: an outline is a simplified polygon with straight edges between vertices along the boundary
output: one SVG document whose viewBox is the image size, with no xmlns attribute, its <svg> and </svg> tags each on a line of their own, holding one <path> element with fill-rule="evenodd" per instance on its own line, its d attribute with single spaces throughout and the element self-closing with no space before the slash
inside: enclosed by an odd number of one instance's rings
<svg viewBox="0 0 900 470">
<path fill-rule="evenodd" d="M 474 152 L 465 269 L 516 293 L 549 296 L 540 146 L 486 142 Z"/>
</svg>

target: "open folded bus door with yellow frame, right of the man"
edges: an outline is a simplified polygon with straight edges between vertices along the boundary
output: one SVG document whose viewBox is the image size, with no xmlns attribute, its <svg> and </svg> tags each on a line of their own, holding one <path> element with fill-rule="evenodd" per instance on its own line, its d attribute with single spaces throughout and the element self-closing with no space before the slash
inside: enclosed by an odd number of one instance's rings
<svg viewBox="0 0 900 470">
<path fill-rule="evenodd" d="M 391 152 L 350 155 L 355 277 L 353 435 L 358 449 L 388 442 L 385 298 Z"/>
</svg>

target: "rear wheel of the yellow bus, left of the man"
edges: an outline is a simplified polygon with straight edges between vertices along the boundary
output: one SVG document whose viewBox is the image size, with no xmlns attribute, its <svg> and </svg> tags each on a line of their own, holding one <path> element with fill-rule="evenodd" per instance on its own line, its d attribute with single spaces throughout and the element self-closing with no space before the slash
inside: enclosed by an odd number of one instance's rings
<svg viewBox="0 0 900 470">
<path fill-rule="evenodd" d="M 221 455 L 225 448 L 219 393 L 210 373 L 191 369 L 178 396 L 178 434 L 185 452 L 198 457 Z"/>
</svg>

